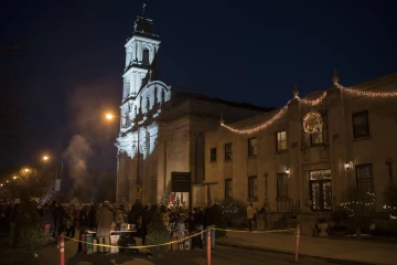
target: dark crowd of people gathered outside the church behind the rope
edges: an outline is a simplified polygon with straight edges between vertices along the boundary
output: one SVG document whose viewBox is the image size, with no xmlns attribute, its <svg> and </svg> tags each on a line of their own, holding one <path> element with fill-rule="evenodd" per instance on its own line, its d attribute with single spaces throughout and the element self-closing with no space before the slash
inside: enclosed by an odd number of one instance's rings
<svg viewBox="0 0 397 265">
<path fill-rule="evenodd" d="M 87 231 L 96 233 L 98 243 L 109 244 L 111 231 L 132 226 L 137 230 L 137 236 L 142 239 L 144 245 L 148 234 L 148 225 L 152 222 L 155 211 L 161 212 L 164 225 L 170 232 L 170 240 L 200 233 L 205 227 L 203 218 L 205 209 L 194 209 L 185 212 L 182 208 L 169 208 L 165 205 L 140 205 L 111 204 L 108 201 L 96 204 L 68 204 L 49 200 L 44 204 L 37 202 L 37 213 L 43 222 L 46 233 L 57 239 L 62 233 L 69 239 L 82 239 Z M 0 231 L 8 233 L 9 244 L 15 243 L 18 233 L 18 216 L 23 215 L 19 203 L 8 203 L 0 206 Z M 78 237 L 76 237 L 76 231 Z M 178 235 L 178 237 L 175 237 Z M 202 248 L 203 236 L 195 236 L 191 247 Z M 78 246 L 82 252 L 82 244 Z"/>
</svg>

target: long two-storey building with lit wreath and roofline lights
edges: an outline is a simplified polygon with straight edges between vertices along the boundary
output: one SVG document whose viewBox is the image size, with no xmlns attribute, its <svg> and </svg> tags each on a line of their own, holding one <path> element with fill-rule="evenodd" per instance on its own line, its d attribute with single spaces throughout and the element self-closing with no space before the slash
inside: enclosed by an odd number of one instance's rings
<svg viewBox="0 0 397 265">
<path fill-rule="evenodd" d="M 329 91 L 299 98 L 296 87 L 285 108 L 207 132 L 205 198 L 300 212 L 307 223 L 334 211 L 347 187 L 382 199 L 397 181 L 397 73 L 348 88 L 333 80 Z"/>
</svg>

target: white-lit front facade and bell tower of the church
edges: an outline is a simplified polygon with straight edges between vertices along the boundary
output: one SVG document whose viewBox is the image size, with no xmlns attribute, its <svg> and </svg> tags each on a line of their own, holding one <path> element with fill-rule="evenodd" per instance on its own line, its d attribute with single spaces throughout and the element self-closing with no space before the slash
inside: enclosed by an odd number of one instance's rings
<svg viewBox="0 0 397 265">
<path fill-rule="evenodd" d="M 144 11 L 144 6 L 143 6 Z M 171 89 L 157 78 L 157 52 L 160 38 L 152 32 L 152 21 L 137 17 L 133 33 L 127 40 L 126 65 L 120 106 L 120 134 L 117 138 L 118 168 L 116 202 L 151 201 L 152 179 L 157 169 L 153 153 L 159 134 L 157 118 Z M 144 165 L 153 163 L 153 167 Z M 142 197 L 141 188 L 146 186 Z M 155 190 L 155 188 L 153 188 Z M 147 200 L 144 200 L 147 197 Z"/>
</svg>

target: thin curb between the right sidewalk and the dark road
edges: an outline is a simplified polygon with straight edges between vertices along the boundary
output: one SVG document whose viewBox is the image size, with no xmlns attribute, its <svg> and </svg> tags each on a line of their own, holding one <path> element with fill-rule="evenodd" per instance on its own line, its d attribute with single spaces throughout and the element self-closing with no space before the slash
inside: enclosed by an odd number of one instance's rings
<svg viewBox="0 0 397 265">
<path fill-rule="evenodd" d="M 281 250 L 275 250 L 275 248 L 255 246 L 255 245 L 246 245 L 246 244 L 239 244 L 239 243 L 229 243 L 229 242 L 216 241 L 216 244 L 217 245 L 223 245 L 223 246 L 229 246 L 229 247 L 238 247 L 238 248 L 244 248 L 244 250 L 250 250 L 250 251 L 261 251 L 261 252 L 271 252 L 271 253 L 282 253 L 282 254 L 287 254 L 287 255 L 294 255 L 293 252 L 289 252 L 289 251 L 281 251 Z M 369 262 L 341 259 L 341 258 L 335 258 L 335 257 L 331 257 L 331 256 L 319 256 L 319 255 L 305 254 L 305 253 L 299 253 L 299 256 L 300 257 L 311 257 L 311 258 L 323 259 L 323 261 L 326 261 L 326 262 L 330 262 L 330 263 L 335 263 L 335 264 L 341 264 L 341 265 L 374 265 L 374 263 L 369 263 Z M 385 265 L 385 264 L 380 264 L 380 263 L 377 263 L 377 264 L 378 265 Z"/>
</svg>

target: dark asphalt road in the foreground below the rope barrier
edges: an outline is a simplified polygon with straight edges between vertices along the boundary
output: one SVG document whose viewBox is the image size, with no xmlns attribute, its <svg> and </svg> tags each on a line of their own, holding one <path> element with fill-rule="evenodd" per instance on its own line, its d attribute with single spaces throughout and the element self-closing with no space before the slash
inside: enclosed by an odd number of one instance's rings
<svg viewBox="0 0 397 265">
<path fill-rule="evenodd" d="M 77 243 L 66 242 L 65 244 L 65 264 L 66 265 L 168 265 L 168 264 L 183 264 L 183 265 L 203 265 L 206 264 L 206 252 L 203 250 L 193 250 L 184 252 L 170 252 L 165 257 L 159 261 L 148 258 L 146 254 L 76 254 Z M 58 253 L 56 246 L 50 246 L 40 252 L 37 258 L 39 265 L 58 265 Z M 264 251 L 242 250 L 229 246 L 217 245 L 212 251 L 212 265 L 258 265 L 258 264 L 275 264 L 275 265 L 291 265 L 294 263 L 292 255 L 282 253 L 272 253 Z M 299 264 L 308 265 L 326 265 L 335 263 L 323 259 L 301 257 Z"/>
</svg>

